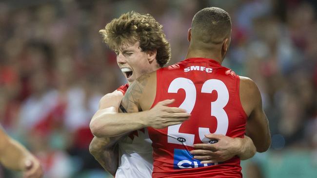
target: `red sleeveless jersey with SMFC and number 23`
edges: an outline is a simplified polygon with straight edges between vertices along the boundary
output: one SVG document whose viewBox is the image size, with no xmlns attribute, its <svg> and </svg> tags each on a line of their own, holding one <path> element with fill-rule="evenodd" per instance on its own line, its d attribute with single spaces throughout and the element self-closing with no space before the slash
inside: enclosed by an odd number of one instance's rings
<svg viewBox="0 0 317 178">
<path fill-rule="evenodd" d="M 189 120 L 164 129 L 148 128 L 153 147 L 153 178 L 241 178 L 240 159 L 202 164 L 190 151 L 209 143 L 205 134 L 244 136 L 246 114 L 239 98 L 239 77 L 206 58 L 189 58 L 157 71 L 159 101 L 176 99 L 171 107 L 191 113 Z M 209 143 L 210 144 L 210 143 Z"/>
</svg>

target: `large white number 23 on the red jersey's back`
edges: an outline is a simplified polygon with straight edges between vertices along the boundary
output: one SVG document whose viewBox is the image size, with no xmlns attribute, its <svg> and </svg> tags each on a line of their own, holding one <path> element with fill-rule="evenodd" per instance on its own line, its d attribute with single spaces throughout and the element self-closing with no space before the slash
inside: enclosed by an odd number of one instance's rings
<svg viewBox="0 0 317 178">
<path fill-rule="evenodd" d="M 169 88 L 169 93 L 177 93 L 178 89 L 185 90 L 185 99 L 179 108 L 186 109 L 188 113 L 191 113 L 196 104 L 196 87 L 188 78 L 179 77 L 174 79 Z M 217 129 L 216 134 L 226 135 L 228 130 L 228 115 L 223 109 L 229 101 L 229 92 L 226 85 L 218 79 L 209 79 L 204 82 L 201 88 L 201 93 L 212 93 L 216 90 L 218 93 L 218 98 L 216 101 L 210 103 L 211 116 L 217 119 Z M 175 144 L 185 144 L 187 146 L 192 146 L 194 144 L 195 135 L 189 133 L 180 133 L 179 128 L 182 124 L 171 125 L 167 129 L 167 142 Z M 193 128 L 196 129 L 196 128 Z M 198 127 L 198 133 L 200 141 L 203 143 L 208 143 L 209 139 L 205 137 L 205 134 L 210 134 L 209 128 Z"/>
</svg>

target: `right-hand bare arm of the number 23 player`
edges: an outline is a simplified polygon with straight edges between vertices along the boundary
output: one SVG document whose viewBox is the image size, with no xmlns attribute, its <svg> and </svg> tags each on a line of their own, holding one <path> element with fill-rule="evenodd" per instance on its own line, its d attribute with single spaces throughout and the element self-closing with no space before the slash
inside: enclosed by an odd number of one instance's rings
<svg viewBox="0 0 317 178">
<path fill-rule="evenodd" d="M 252 139 L 258 152 L 266 151 L 271 144 L 268 119 L 262 108 L 258 86 L 247 77 L 240 77 L 240 100 L 247 113 L 246 134 Z"/>
</svg>

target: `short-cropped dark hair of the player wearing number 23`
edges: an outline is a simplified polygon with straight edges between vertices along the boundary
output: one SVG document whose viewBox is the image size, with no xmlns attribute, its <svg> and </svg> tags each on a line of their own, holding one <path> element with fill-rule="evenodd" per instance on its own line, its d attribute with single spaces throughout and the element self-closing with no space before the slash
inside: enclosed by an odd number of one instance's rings
<svg viewBox="0 0 317 178">
<path fill-rule="evenodd" d="M 218 44 L 231 33 L 229 14 L 221 8 L 209 7 L 200 10 L 193 18 L 192 39 Z"/>
</svg>

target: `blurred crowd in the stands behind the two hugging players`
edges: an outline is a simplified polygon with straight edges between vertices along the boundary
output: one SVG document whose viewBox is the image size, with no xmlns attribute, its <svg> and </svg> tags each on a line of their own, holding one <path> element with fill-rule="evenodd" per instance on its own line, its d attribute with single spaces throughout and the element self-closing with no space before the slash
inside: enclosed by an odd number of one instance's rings
<svg viewBox="0 0 317 178">
<path fill-rule="evenodd" d="M 208 6 L 231 15 L 223 65 L 258 84 L 270 121 L 272 146 L 242 162 L 245 178 L 316 178 L 316 0 L 1 0 L 0 124 L 40 158 L 45 178 L 109 176 L 89 154 L 88 125 L 125 79 L 99 29 L 127 11 L 150 13 L 173 64 Z M 0 167 L 0 178 L 18 176 Z"/>
</svg>

